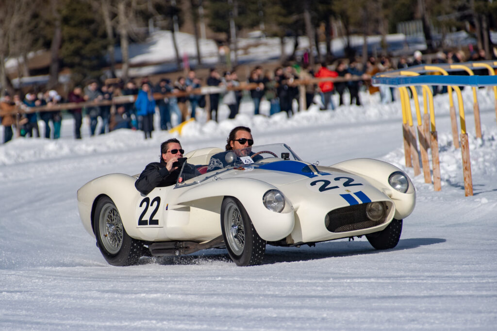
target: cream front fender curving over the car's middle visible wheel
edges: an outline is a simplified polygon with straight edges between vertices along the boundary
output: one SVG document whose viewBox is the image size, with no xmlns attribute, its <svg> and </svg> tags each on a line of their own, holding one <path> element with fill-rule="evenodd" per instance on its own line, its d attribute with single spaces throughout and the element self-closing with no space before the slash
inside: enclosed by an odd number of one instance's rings
<svg viewBox="0 0 497 331">
<path fill-rule="evenodd" d="M 294 227 L 293 207 L 285 197 L 286 207 L 282 213 L 268 210 L 262 203 L 262 196 L 270 189 L 277 189 L 266 182 L 251 178 L 222 178 L 188 188 L 181 193 L 175 204 L 189 205 L 192 201 L 216 197 L 233 196 L 247 210 L 248 216 L 260 238 L 278 241 L 288 236 Z M 218 201 L 222 201 L 219 199 Z M 221 205 L 212 205 L 211 211 L 220 213 Z"/>
</svg>

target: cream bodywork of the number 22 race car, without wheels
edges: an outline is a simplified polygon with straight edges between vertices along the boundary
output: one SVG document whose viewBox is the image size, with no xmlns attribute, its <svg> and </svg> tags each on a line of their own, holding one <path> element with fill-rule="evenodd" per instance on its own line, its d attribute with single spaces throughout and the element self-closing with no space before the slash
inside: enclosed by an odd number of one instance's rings
<svg viewBox="0 0 497 331">
<path fill-rule="evenodd" d="M 269 151 L 277 157 L 262 153 L 264 159 L 259 162 L 228 166 L 186 181 L 180 179 L 176 185 L 156 187 L 147 195 L 135 188 L 136 175 L 114 173 L 95 178 L 78 190 L 83 226 L 95 236 L 94 222 L 98 221 L 95 206 L 101 197 L 107 196 L 115 204 L 127 235 L 144 247 L 151 248 L 154 243 L 207 243 L 223 236 L 222 203 L 226 197 L 234 197 L 247 211 L 263 241 L 297 246 L 379 233 L 392 220 L 402 220 L 414 209 L 415 191 L 409 177 L 402 173 L 408 181 L 405 193 L 389 183 L 392 173 L 402 172 L 394 165 L 354 159 L 329 167 L 315 166 L 301 161 L 284 144 L 254 146 L 251 151 Z M 185 157 L 189 164 L 207 165 L 220 152 L 218 148 L 204 148 Z M 265 207 L 263 196 L 269 190 L 278 190 L 284 196 L 281 212 Z M 347 220 L 347 215 L 359 215 L 350 214 L 352 209 L 362 213 L 357 208 L 366 208 L 372 202 L 381 202 L 386 207 L 381 220 Z M 329 213 L 330 222 L 325 221 Z M 225 244 L 218 240 L 208 247 Z M 166 249 L 158 255 L 171 253 L 181 251 Z"/>
</svg>

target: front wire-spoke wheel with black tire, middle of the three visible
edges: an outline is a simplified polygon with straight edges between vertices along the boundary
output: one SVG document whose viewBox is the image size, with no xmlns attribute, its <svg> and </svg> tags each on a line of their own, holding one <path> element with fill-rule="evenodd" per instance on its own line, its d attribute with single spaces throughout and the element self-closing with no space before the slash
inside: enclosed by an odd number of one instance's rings
<svg viewBox="0 0 497 331">
<path fill-rule="evenodd" d="M 266 241 L 259 237 L 238 199 L 226 197 L 223 200 L 221 229 L 228 254 L 237 265 L 260 264 L 266 250 Z"/>
</svg>

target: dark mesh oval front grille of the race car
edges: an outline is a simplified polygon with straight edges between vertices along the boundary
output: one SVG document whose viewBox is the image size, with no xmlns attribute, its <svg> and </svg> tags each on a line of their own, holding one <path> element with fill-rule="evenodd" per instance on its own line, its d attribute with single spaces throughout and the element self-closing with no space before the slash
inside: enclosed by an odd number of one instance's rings
<svg viewBox="0 0 497 331">
<path fill-rule="evenodd" d="M 367 205 L 367 203 L 361 203 L 332 210 L 328 213 L 330 223 L 326 228 L 330 232 L 348 232 L 372 228 L 385 222 L 386 216 L 378 221 L 371 221 L 366 215 Z"/>
</svg>

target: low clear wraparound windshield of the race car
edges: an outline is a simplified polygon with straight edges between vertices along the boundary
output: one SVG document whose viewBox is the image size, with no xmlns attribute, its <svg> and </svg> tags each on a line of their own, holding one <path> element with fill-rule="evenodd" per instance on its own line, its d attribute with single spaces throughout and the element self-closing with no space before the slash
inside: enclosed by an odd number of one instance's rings
<svg viewBox="0 0 497 331">
<path fill-rule="evenodd" d="M 257 166 L 274 161 L 302 161 L 286 144 L 251 146 L 239 150 L 222 151 L 204 149 L 205 153 L 193 151 L 181 169 L 176 187 L 197 184 L 233 168 Z"/>
</svg>

